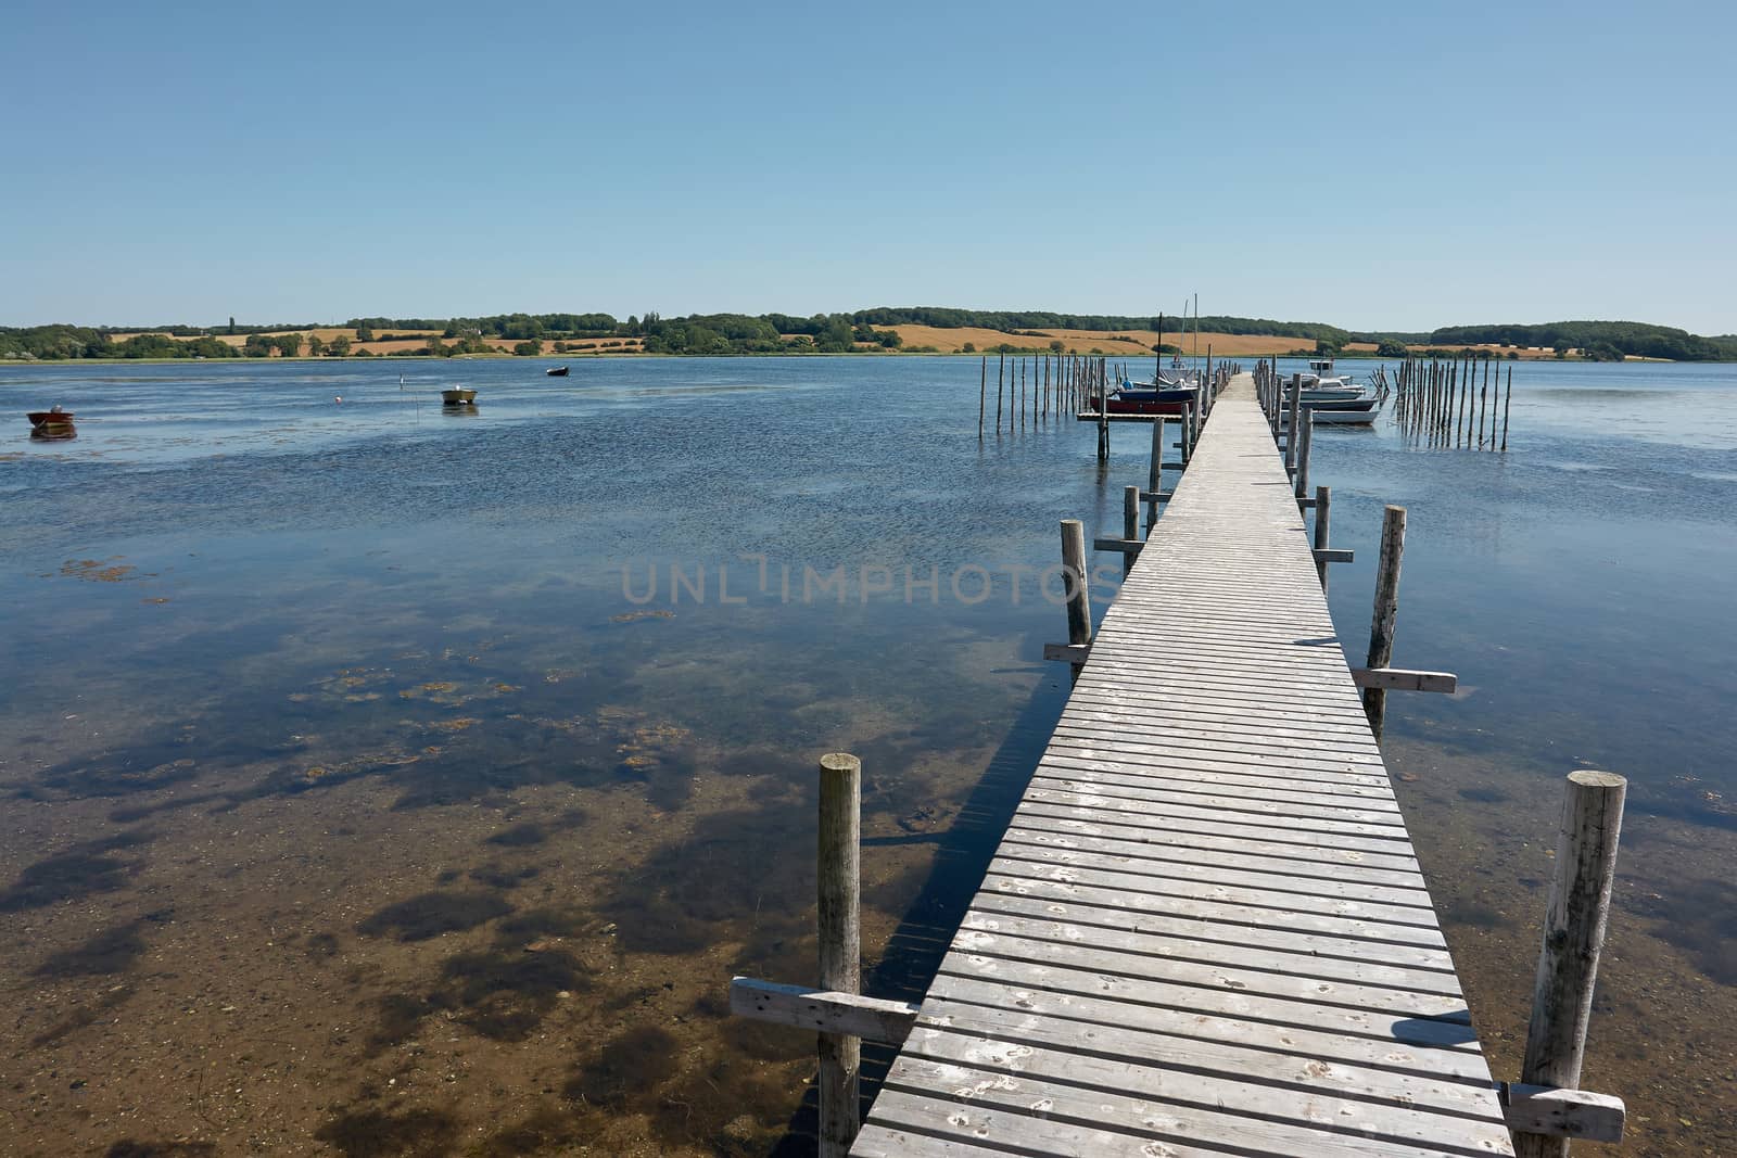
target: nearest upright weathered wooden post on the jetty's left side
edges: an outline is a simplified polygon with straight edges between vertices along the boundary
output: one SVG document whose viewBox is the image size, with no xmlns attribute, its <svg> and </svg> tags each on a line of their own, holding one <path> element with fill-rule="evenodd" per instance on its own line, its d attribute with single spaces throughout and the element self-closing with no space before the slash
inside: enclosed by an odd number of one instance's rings
<svg viewBox="0 0 1737 1158">
<path fill-rule="evenodd" d="M 862 776 L 855 755 L 820 757 L 820 988 L 862 991 Z M 820 1035 L 820 1155 L 844 1158 L 862 1113 L 862 1040 Z"/>
</svg>

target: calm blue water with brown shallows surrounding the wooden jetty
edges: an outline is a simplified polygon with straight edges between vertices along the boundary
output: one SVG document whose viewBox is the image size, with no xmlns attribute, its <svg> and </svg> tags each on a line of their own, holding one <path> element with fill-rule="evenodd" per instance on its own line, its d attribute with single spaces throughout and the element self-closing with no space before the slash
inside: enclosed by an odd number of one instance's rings
<svg viewBox="0 0 1737 1158">
<path fill-rule="evenodd" d="M 1560 778 L 1612 767 L 1586 1085 L 1631 1153 L 1737 1148 L 1737 370 L 1515 375 L 1506 455 L 1320 434 L 1334 616 L 1357 656 L 1405 505 L 1395 661 L 1463 691 L 1386 748 L 1499 1076 Z M 1056 521 L 1145 477 L 1143 429 L 980 446 L 976 378 L 0 368 L 80 415 L 0 444 L 7 1153 L 801 1153 L 811 1042 L 721 991 L 813 976 L 815 757 L 865 760 L 870 984 L 921 991 L 1061 705 Z"/>
</svg>

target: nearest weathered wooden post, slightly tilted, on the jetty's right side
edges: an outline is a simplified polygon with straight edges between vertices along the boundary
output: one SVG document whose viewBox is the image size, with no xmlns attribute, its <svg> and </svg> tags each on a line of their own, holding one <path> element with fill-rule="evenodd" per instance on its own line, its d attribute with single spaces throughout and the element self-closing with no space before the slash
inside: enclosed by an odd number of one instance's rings
<svg viewBox="0 0 1737 1158">
<path fill-rule="evenodd" d="M 1544 944 L 1532 984 L 1532 1021 L 1520 1080 L 1565 1090 L 1581 1087 L 1593 983 L 1610 920 L 1610 884 L 1628 780 L 1615 773 L 1569 773 L 1556 839 L 1556 870 L 1544 911 Z M 1515 1135 L 1516 1158 L 1567 1158 L 1567 1137 Z"/>
</svg>

